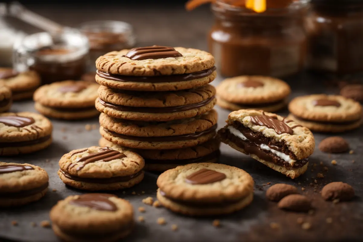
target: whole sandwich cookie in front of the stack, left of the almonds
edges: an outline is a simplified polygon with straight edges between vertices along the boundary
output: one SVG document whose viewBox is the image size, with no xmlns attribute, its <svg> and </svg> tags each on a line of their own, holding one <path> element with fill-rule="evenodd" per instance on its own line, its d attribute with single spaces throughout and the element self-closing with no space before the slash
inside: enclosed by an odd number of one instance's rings
<svg viewBox="0 0 363 242">
<path fill-rule="evenodd" d="M 253 200 L 252 177 L 229 165 L 181 165 L 162 173 L 156 183 L 164 207 L 190 216 L 233 213 Z"/>
</svg>

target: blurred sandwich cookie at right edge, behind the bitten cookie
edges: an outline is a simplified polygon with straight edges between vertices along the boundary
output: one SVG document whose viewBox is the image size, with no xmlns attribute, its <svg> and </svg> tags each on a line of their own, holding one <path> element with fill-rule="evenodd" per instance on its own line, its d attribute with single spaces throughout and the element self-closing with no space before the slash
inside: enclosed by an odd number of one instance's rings
<svg viewBox="0 0 363 242">
<path fill-rule="evenodd" d="M 318 132 L 343 132 L 362 124 L 362 106 L 338 95 L 308 95 L 289 104 L 288 119 Z"/>
</svg>

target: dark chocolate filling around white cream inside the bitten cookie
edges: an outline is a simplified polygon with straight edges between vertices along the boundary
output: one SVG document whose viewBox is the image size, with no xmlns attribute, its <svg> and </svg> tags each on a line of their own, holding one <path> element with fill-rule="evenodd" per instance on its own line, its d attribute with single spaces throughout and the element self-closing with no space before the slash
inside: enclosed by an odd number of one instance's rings
<svg viewBox="0 0 363 242">
<path fill-rule="evenodd" d="M 242 140 L 233 134 L 229 132 L 227 128 L 223 128 L 220 131 L 220 135 L 225 140 L 230 140 L 234 144 L 236 144 L 238 147 L 245 150 L 246 153 L 254 154 L 258 156 L 260 159 L 272 162 L 276 165 L 281 165 L 287 169 L 293 169 L 293 168 L 301 168 L 308 162 L 308 159 L 303 160 L 297 160 L 296 156 L 293 152 L 289 150 L 287 145 L 283 142 L 277 142 L 271 138 L 267 138 L 261 133 L 256 133 L 250 130 L 249 128 L 245 127 L 240 122 L 233 122 L 231 124 L 232 127 L 236 128 L 238 131 L 240 131 L 248 141 Z M 280 151 L 286 155 L 289 155 L 291 159 L 296 160 L 293 165 L 291 165 L 289 162 L 285 161 L 284 159 L 281 159 L 271 151 L 266 151 L 264 149 L 261 149 L 260 144 L 266 144 L 270 148 Z"/>
</svg>

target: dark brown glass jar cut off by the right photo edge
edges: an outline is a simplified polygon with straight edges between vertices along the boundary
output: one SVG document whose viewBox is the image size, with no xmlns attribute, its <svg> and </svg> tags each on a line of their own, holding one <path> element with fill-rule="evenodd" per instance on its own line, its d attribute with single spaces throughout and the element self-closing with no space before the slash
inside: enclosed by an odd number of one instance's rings
<svg viewBox="0 0 363 242">
<path fill-rule="evenodd" d="M 363 71 L 362 0 L 312 0 L 306 30 L 309 69 L 338 75 Z"/>
</svg>

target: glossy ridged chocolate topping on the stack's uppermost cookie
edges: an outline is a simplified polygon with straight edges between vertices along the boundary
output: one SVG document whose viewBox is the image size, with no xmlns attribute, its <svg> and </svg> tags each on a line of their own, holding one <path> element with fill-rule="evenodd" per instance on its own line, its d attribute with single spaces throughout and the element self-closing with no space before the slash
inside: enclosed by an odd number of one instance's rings
<svg viewBox="0 0 363 242">
<path fill-rule="evenodd" d="M 172 47 L 167 46 L 148 46 L 131 49 L 123 57 L 130 58 L 134 61 L 146 60 L 146 59 L 160 59 L 168 57 L 181 57 L 183 56 Z"/>
</svg>

